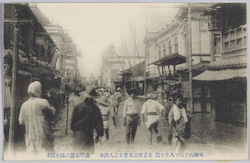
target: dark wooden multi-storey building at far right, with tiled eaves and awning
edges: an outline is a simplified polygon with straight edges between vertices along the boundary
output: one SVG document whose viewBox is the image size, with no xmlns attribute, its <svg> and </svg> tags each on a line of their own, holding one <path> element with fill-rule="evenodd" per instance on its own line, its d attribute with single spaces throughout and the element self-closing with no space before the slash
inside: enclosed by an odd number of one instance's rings
<svg viewBox="0 0 250 163">
<path fill-rule="evenodd" d="M 212 117 L 215 121 L 247 126 L 247 22 L 246 4 L 214 4 L 208 12 L 216 49 L 221 33 L 221 57 L 194 77 L 211 92 Z"/>
</svg>

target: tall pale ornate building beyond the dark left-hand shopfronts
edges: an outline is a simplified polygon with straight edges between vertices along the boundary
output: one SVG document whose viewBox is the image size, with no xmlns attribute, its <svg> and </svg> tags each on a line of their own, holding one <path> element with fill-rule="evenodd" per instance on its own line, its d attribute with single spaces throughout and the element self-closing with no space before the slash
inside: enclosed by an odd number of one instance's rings
<svg viewBox="0 0 250 163">
<path fill-rule="evenodd" d="M 58 76 L 63 82 L 61 90 L 64 90 L 65 85 L 73 90 L 80 84 L 77 57 L 80 57 L 81 54 L 77 51 L 77 46 L 73 43 L 69 34 L 61 26 L 46 24 L 44 28 L 58 47 L 58 56 L 55 56 L 54 64 L 58 70 Z"/>
</svg>

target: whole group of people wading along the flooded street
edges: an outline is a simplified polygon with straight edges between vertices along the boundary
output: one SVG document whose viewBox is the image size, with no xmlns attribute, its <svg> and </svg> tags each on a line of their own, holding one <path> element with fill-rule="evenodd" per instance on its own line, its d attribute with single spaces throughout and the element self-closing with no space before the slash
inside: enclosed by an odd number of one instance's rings
<svg viewBox="0 0 250 163">
<path fill-rule="evenodd" d="M 29 85 L 27 92 L 30 98 L 22 105 L 19 115 L 19 123 L 25 133 L 26 150 L 33 154 L 54 151 L 51 120 L 56 110 L 46 99 L 41 98 L 41 87 L 38 81 Z M 122 101 L 120 90 L 117 88 L 116 93 L 110 95 L 107 92 L 98 92 L 93 86 L 88 86 L 84 91 L 76 88 L 74 95 L 69 98 L 70 129 L 73 131 L 75 152 L 93 154 L 95 143 L 103 142 L 104 138 L 109 140 L 109 121 L 112 118 L 114 126 L 117 126 L 118 122 L 118 111 Z M 150 144 L 153 131 L 157 142 L 161 142 L 158 123 L 165 108 L 154 100 L 151 93 L 147 94 L 147 101 L 142 108 L 136 99 L 135 90 L 129 90 L 128 95 L 122 112 L 122 122 L 126 127 L 126 143 L 134 143 L 137 126 L 141 121 L 145 122 L 149 130 Z M 190 131 L 187 130 L 189 118 L 182 100 L 181 95 L 175 95 L 173 106 L 168 112 L 169 138 L 175 145 L 176 152 L 180 152 L 185 138 L 190 136 Z"/>
</svg>

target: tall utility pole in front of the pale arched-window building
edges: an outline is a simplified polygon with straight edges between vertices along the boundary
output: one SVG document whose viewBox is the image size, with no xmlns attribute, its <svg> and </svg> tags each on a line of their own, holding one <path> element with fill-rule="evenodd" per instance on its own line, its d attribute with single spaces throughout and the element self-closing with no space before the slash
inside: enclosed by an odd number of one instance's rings
<svg viewBox="0 0 250 163">
<path fill-rule="evenodd" d="M 188 94 L 188 100 L 189 100 L 189 109 L 191 112 L 194 112 L 194 107 L 193 107 L 193 83 L 192 83 L 192 78 L 193 78 L 193 73 L 192 73 L 192 23 L 191 23 L 191 3 L 188 4 L 188 67 L 189 67 L 189 94 Z"/>
</svg>

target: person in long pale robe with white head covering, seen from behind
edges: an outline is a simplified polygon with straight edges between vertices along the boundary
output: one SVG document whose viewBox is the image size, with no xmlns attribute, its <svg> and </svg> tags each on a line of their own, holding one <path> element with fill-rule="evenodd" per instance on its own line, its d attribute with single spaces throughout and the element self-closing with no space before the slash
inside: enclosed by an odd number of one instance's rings
<svg viewBox="0 0 250 163">
<path fill-rule="evenodd" d="M 54 152 L 51 120 L 56 110 L 41 98 L 40 82 L 32 82 L 27 92 L 29 99 L 22 104 L 19 114 L 19 124 L 25 131 L 26 150 L 31 154 Z"/>
</svg>

